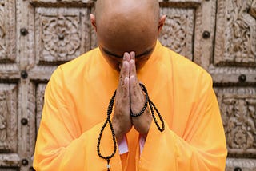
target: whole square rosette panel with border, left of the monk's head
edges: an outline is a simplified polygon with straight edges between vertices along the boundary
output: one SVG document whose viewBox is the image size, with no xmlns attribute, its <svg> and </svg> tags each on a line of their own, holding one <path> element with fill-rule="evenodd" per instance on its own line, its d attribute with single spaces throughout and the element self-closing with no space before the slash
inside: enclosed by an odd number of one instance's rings
<svg viewBox="0 0 256 171">
<path fill-rule="evenodd" d="M 86 8 L 35 9 L 36 59 L 60 64 L 90 50 L 90 20 Z"/>
</svg>

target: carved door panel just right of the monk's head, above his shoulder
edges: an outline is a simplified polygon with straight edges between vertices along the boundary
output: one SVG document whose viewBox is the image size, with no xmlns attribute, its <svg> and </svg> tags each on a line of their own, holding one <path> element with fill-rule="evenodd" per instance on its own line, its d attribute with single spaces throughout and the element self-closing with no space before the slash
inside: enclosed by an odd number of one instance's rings
<svg viewBox="0 0 256 171">
<path fill-rule="evenodd" d="M 166 22 L 160 33 L 159 41 L 163 46 L 192 60 L 192 37 L 194 32 L 194 10 L 161 8 L 166 14 Z"/>
</svg>

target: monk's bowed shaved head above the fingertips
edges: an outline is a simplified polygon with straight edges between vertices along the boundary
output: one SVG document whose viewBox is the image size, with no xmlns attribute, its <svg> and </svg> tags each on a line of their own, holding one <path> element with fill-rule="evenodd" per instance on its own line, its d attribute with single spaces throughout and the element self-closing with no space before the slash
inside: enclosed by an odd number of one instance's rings
<svg viewBox="0 0 256 171">
<path fill-rule="evenodd" d="M 158 0 L 98 0 L 93 24 L 102 54 L 122 57 L 134 51 L 143 55 L 154 49 L 159 17 Z"/>
</svg>

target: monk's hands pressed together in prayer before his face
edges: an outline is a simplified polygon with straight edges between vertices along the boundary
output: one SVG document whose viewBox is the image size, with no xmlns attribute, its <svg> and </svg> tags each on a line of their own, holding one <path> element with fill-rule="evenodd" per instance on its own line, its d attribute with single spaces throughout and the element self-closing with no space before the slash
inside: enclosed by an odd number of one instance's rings
<svg viewBox="0 0 256 171">
<path fill-rule="evenodd" d="M 131 117 L 132 113 L 139 113 L 145 104 L 145 94 L 139 85 L 135 66 L 135 53 L 123 55 L 122 66 L 119 76 L 119 84 L 115 97 L 114 115 L 112 123 L 117 141 L 122 141 L 123 136 L 130 131 L 132 126 L 146 137 L 152 116 L 149 108 L 139 117 Z"/>
</svg>

